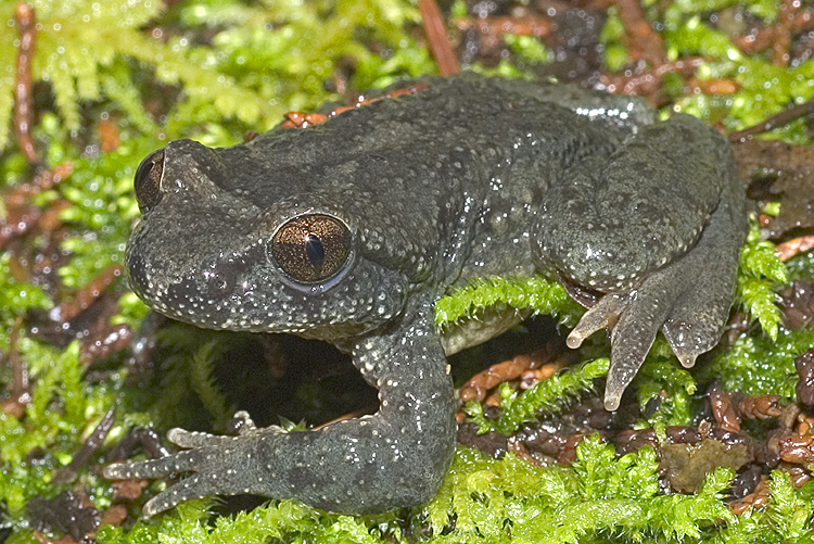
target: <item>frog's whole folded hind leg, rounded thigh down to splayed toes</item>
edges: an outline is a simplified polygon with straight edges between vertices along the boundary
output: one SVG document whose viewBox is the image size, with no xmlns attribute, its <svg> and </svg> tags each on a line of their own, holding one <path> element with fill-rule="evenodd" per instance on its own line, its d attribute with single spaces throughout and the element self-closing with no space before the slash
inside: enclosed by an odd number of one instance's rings
<svg viewBox="0 0 814 544">
<path fill-rule="evenodd" d="M 567 172 L 534 233 L 540 268 L 609 293 L 569 345 L 611 330 L 605 406 L 616 409 L 659 329 L 684 366 L 721 337 L 746 236 L 730 148 L 686 115 L 643 127 L 610 157 Z"/>
</svg>

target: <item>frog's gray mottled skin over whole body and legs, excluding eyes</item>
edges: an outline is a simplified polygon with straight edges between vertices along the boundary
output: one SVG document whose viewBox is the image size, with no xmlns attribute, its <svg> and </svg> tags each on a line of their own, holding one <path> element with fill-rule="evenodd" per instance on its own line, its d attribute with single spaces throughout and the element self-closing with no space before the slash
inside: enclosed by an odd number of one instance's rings
<svg viewBox="0 0 814 544">
<path fill-rule="evenodd" d="M 174 141 L 156 155 L 161 199 L 127 251 L 136 292 L 202 327 L 332 341 L 381 407 L 313 432 L 174 429 L 186 451 L 105 469 L 193 472 L 145 514 L 215 493 L 356 514 L 432 498 L 456 433 L 433 305 L 474 276 L 559 273 L 609 293 L 569 343 L 611 328 L 610 409 L 660 329 L 687 366 L 717 341 L 746 232 L 724 138 L 556 85 L 429 84 L 316 127 L 219 150 Z M 353 237 L 346 264 L 321 283 L 297 282 L 269 256 L 277 229 L 307 214 L 339 218 Z"/>
</svg>

